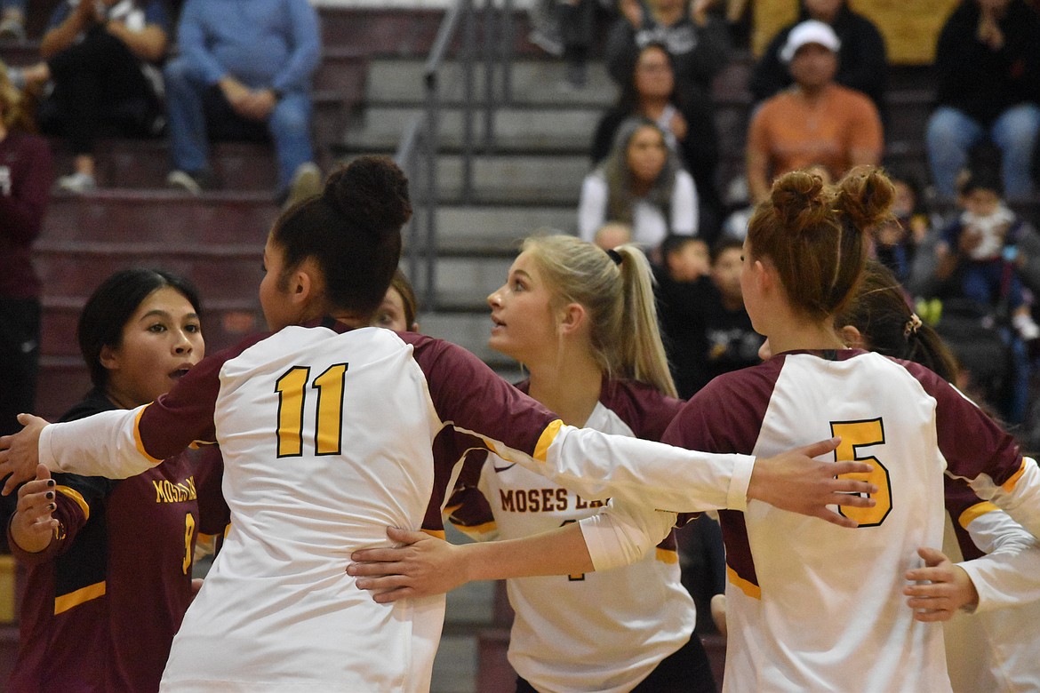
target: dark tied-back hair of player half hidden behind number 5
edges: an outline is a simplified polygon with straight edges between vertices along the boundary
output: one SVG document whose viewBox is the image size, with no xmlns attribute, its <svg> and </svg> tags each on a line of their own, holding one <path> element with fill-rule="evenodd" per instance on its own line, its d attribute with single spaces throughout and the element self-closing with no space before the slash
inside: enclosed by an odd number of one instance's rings
<svg viewBox="0 0 1040 693">
<path fill-rule="evenodd" d="M 835 326 L 844 325 L 858 329 L 870 351 L 920 364 L 950 382 L 957 375 L 954 354 L 910 308 L 891 270 L 877 260 L 867 261 L 859 293 L 835 319 Z"/>
</svg>

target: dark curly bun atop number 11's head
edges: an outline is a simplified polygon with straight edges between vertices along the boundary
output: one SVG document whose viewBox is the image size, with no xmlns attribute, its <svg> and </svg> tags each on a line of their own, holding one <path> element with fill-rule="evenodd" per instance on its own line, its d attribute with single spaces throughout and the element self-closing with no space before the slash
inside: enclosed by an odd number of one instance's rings
<svg viewBox="0 0 1040 693">
<path fill-rule="evenodd" d="M 329 176 L 322 194 L 363 229 L 397 232 L 412 218 L 408 178 L 389 157 L 355 159 Z"/>
</svg>

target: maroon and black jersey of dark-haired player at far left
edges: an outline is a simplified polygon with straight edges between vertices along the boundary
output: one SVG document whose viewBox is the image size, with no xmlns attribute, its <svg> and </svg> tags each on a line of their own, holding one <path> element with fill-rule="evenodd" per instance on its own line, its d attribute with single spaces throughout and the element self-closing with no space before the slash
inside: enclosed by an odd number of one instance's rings
<svg viewBox="0 0 1040 693">
<path fill-rule="evenodd" d="M 63 418 L 115 408 L 92 392 Z M 215 448 L 187 451 L 125 480 L 57 474 L 56 538 L 20 551 L 26 589 L 11 693 L 157 691 L 191 602 L 200 532 L 223 533 Z"/>
</svg>

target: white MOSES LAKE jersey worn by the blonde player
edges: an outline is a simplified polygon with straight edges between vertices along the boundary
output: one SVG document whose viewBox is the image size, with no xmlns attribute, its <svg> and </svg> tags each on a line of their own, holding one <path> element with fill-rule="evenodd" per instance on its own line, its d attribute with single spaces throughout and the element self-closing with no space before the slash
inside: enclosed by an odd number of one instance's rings
<svg viewBox="0 0 1040 693">
<path fill-rule="evenodd" d="M 680 404 L 648 385 L 604 380 L 586 427 L 657 439 Z M 609 512 L 609 506 L 482 451 L 467 460 L 447 508 L 451 522 L 474 538 L 513 539 Z M 671 515 L 665 527 L 673 522 Z M 508 580 L 515 612 L 509 661 L 517 673 L 539 691 L 624 693 L 682 647 L 697 614 L 680 582 L 674 533 L 654 547 L 656 540 L 644 542 L 626 567 L 599 570 L 610 558 L 597 550 L 617 549 L 587 537 L 597 571 Z"/>
</svg>

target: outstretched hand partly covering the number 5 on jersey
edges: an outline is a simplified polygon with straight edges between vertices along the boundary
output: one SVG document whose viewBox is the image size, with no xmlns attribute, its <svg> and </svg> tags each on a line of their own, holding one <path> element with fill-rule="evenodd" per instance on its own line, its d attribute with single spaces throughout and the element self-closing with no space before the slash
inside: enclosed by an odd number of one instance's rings
<svg viewBox="0 0 1040 693">
<path fill-rule="evenodd" d="M 828 505 L 873 508 L 875 501 L 862 495 L 877 494 L 867 481 L 841 478 L 847 474 L 867 474 L 866 462 L 822 462 L 813 457 L 833 452 L 839 437 L 821 441 L 774 457 L 759 457 L 748 484 L 748 498 L 764 501 L 782 510 L 826 519 L 839 527 L 858 524 L 829 509 Z"/>
</svg>

